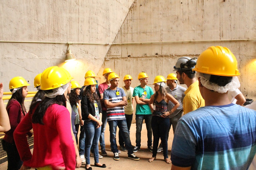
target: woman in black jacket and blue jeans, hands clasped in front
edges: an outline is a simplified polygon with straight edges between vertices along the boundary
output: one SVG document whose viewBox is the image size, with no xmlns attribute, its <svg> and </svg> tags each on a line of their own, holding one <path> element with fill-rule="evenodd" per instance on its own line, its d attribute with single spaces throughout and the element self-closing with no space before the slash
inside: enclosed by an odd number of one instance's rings
<svg viewBox="0 0 256 170">
<path fill-rule="evenodd" d="M 106 168 L 105 164 L 99 163 L 99 137 L 102 125 L 102 109 L 99 96 L 95 93 L 96 81 L 94 78 L 86 78 L 84 81 L 84 96 L 81 101 L 82 120 L 86 136 L 86 169 L 90 166 L 90 148 L 93 146 L 94 166 Z"/>
</svg>

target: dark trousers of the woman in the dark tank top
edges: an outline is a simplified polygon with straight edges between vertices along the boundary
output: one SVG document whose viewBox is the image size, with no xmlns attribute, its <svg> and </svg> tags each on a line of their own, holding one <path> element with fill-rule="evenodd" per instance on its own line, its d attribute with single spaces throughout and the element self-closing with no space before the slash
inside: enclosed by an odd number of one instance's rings
<svg viewBox="0 0 256 170">
<path fill-rule="evenodd" d="M 152 157 L 156 157 L 159 139 L 161 139 L 163 145 L 163 157 L 166 159 L 168 158 L 167 131 L 170 126 L 170 120 L 169 118 L 152 116 L 151 126 L 154 137 Z"/>
</svg>

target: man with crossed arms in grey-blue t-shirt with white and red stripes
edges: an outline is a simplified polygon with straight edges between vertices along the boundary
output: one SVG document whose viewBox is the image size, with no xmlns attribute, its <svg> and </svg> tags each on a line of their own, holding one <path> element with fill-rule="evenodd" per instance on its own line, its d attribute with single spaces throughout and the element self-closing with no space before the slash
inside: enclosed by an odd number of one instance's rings
<svg viewBox="0 0 256 170">
<path fill-rule="evenodd" d="M 122 133 L 125 142 L 125 147 L 128 150 L 128 158 L 133 160 L 140 160 L 134 153 L 131 145 L 130 134 L 125 120 L 124 106 L 127 105 L 125 92 L 118 87 L 118 75 L 114 72 L 108 76 L 108 82 L 111 86 L 103 93 L 103 100 L 107 107 L 107 121 L 110 131 L 110 147 L 114 153 L 114 160 L 119 160 L 119 154 L 116 144 L 116 127 Z"/>
</svg>

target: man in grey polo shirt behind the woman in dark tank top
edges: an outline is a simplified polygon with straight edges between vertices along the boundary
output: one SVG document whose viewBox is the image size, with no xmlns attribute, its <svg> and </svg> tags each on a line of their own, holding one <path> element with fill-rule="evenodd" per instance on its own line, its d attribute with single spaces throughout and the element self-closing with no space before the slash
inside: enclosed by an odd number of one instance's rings
<svg viewBox="0 0 256 170">
<path fill-rule="evenodd" d="M 179 86 L 177 84 L 177 77 L 174 73 L 171 73 L 167 76 L 166 78 L 166 85 L 168 87 L 166 87 L 166 91 L 167 93 L 169 93 L 170 95 L 172 95 L 179 103 L 180 106 L 171 114 L 169 115 L 170 118 L 170 127 L 169 130 L 167 132 L 167 140 L 169 137 L 169 132 L 172 126 L 173 129 L 173 134 L 175 133 L 175 129 L 178 123 L 178 120 L 181 118 L 182 112 L 183 112 L 183 98 L 185 97 L 184 92 L 186 91 L 186 88 Z M 174 104 L 169 101 L 168 106 L 167 106 L 167 111 L 171 110 L 173 108 Z M 163 151 L 163 147 L 162 147 L 162 142 L 160 143 L 157 152 L 162 152 Z"/>
</svg>

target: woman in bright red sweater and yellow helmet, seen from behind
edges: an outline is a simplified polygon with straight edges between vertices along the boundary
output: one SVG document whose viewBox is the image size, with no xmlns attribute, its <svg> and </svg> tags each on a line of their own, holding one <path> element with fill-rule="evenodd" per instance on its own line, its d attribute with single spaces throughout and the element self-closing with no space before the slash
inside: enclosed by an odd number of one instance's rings
<svg viewBox="0 0 256 170">
<path fill-rule="evenodd" d="M 40 89 L 46 95 L 42 102 L 24 117 L 14 132 L 14 140 L 23 161 L 22 169 L 74 170 L 75 147 L 70 131 L 70 114 L 66 95 L 70 74 L 57 66 L 41 75 Z M 34 130 L 34 151 L 30 152 L 26 133 Z"/>
</svg>

